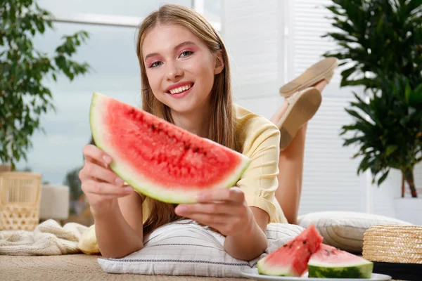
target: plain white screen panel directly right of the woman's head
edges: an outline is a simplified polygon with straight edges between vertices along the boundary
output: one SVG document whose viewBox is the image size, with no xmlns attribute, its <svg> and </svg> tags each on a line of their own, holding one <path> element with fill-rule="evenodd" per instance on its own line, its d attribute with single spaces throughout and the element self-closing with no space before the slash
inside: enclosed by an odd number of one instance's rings
<svg viewBox="0 0 422 281">
<path fill-rule="evenodd" d="M 222 1 L 222 37 L 229 52 L 234 101 L 271 118 L 283 98 L 283 1 Z"/>
</svg>

